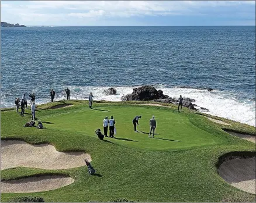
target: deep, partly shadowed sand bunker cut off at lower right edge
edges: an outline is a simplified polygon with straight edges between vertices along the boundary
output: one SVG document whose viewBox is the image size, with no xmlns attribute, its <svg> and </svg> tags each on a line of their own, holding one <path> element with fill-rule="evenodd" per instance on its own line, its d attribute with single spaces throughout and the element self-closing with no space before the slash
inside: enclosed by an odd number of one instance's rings
<svg viewBox="0 0 256 203">
<path fill-rule="evenodd" d="M 220 176 L 240 190 L 255 194 L 255 158 L 231 159 L 220 165 Z"/>
</svg>

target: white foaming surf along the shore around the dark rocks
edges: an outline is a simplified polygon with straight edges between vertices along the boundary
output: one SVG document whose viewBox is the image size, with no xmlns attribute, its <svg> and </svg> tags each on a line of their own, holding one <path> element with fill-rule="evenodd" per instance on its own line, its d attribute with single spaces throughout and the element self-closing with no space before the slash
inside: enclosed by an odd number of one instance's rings
<svg viewBox="0 0 256 203">
<path fill-rule="evenodd" d="M 132 93 L 134 87 L 114 87 L 117 90 L 116 95 L 102 94 L 103 90 L 109 87 L 73 86 L 69 88 L 71 92 L 70 99 L 88 100 L 89 92 L 92 92 L 94 100 L 121 101 L 121 97 Z M 179 95 L 182 95 L 182 97 L 195 99 L 196 102 L 193 102 L 193 104 L 209 109 L 209 112 L 199 109 L 201 112 L 255 126 L 255 101 L 238 99 L 231 92 L 217 90 L 207 91 L 193 88 L 167 88 L 165 86 L 155 86 L 155 88 L 157 88 L 157 90 L 161 89 L 164 94 L 167 94 L 169 97 L 178 98 Z M 56 93 L 56 100 L 63 99 L 64 95 L 64 92 Z M 48 98 L 47 101 L 42 99 L 36 100 L 37 104 L 46 102 L 50 102 L 50 98 Z M 8 104 L 8 106 L 10 105 Z"/>
</svg>

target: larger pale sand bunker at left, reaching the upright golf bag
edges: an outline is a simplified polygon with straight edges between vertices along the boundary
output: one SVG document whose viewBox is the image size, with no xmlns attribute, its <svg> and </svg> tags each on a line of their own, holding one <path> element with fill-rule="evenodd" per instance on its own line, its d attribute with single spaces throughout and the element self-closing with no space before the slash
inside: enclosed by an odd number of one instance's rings
<svg viewBox="0 0 256 203">
<path fill-rule="evenodd" d="M 18 140 L 1 140 L 1 170 L 24 166 L 40 169 L 70 169 L 85 166 L 84 152 L 58 152 L 50 144 L 31 145 Z"/>
</svg>

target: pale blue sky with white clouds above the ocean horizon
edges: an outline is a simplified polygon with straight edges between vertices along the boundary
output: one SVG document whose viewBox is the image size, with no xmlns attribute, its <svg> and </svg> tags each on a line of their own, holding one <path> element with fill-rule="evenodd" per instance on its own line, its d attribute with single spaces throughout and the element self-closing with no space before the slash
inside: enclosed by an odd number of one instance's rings
<svg viewBox="0 0 256 203">
<path fill-rule="evenodd" d="M 1 1 L 25 26 L 255 26 L 255 1 Z"/>
</svg>

